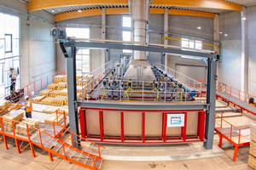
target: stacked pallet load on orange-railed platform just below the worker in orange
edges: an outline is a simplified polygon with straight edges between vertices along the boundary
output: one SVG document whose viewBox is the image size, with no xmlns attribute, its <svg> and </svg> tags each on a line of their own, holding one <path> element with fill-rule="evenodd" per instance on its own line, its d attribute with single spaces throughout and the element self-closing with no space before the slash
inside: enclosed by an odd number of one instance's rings
<svg viewBox="0 0 256 170">
<path fill-rule="evenodd" d="M 24 124 L 24 123 L 30 125 L 30 126 L 28 126 L 28 132 L 30 134 L 36 131 L 36 129 L 33 127 L 38 128 L 40 125 L 40 121 L 31 119 L 31 118 L 27 118 L 24 121 L 22 121 L 16 125 L 16 133 L 27 136 L 26 124 Z"/>
</svg>

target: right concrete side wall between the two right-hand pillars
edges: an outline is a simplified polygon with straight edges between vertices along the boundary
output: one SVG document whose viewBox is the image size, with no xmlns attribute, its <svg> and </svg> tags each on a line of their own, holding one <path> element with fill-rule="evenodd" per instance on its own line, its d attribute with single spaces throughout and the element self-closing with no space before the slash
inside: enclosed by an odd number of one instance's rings
<svg viewBox="0 0 256 170">
<path fill-rule="evenodd" d="M 228 12 L 220 15 L 220 41 L 223 45 L 222 63 L 219 63 L 218 81 L 241 88 L 241 13 Z M 228 34 L 227 37 L 224 34 Z"/>
</svg>

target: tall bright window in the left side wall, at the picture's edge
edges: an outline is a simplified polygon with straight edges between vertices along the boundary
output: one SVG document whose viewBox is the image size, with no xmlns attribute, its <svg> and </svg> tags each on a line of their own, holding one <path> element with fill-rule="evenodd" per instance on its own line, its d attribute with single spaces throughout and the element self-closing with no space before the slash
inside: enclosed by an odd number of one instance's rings
<svg viewBox="0 0 256 170">
<path fill-rule="evenodd" d="M 9 69 L 20 68 L 20 18 L 0 13 L 0 97 L 9 94 Z M 20 75 L 16 89 L 20 88 Z"/>
</svg>

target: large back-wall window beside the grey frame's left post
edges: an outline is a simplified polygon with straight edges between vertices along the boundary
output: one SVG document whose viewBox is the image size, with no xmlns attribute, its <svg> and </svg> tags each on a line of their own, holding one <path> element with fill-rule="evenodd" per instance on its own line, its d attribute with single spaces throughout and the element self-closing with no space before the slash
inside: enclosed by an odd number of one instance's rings
<svg viewBox="0 0 256 170">
<path fill-rule="evenodd" d="M 90 38 L 89 28 L 66 28 L 67 37 Z M 77 74 L 90 72 L 90 49 L 79 48 L 77 53 Z"/>
</svg>

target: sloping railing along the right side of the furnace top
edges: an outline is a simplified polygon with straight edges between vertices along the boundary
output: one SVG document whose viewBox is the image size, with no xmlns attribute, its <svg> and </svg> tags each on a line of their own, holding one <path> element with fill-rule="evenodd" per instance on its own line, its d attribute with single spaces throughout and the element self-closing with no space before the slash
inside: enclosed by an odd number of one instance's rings
<svg viewBox="0 0 256 170">
<path fill-rule="evenodd" d="M 183 82 L 184 84 L 189 86 L 189 88 L 201 88 L 201 82 L 198 82 L 193 78 L 187 77 L 186 75 L 183 75 L 182 73 L 175 71 L 170 67 L 167 67 L 166 65 L 160 64 L 160 69 L 166 71 L 174 79 L 177 79 L 177 81 Z"/>
</svg>

